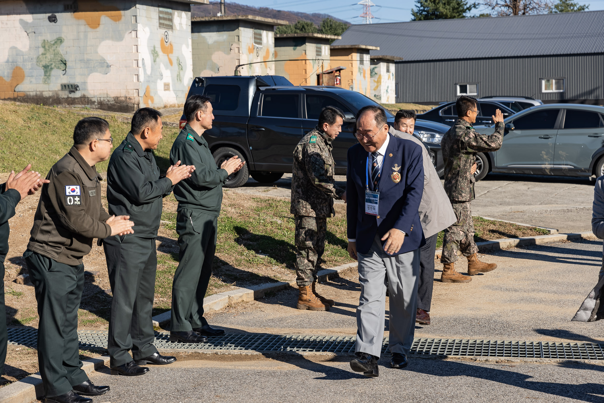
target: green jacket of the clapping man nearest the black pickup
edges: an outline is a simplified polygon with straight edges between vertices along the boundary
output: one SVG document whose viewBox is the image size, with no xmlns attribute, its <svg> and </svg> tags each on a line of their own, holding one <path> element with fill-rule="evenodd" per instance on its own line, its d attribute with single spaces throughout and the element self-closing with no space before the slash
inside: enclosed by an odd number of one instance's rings
<svg viewBox="0 0 604 403">
<path fill-rule="evenodd" d="M 170 164 L 194 165 L 191 177 L 178 182 L 174 196 L 178 208 L 201 211 L 217 217 L 222 204 L 222 185 L 228 178 L 225 169 L 219 169 L 205 138 L 198 135 L 187 123 L 178 134 L 172 150 Z"/>
</svg>

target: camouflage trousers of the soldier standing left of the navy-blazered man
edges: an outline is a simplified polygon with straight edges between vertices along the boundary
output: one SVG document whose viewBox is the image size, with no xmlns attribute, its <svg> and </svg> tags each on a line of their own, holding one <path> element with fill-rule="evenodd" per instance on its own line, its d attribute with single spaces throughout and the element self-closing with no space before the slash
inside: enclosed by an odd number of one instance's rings
<svg viewBox="0 0 604 403">
<path fill-rule="evenodd" d="M 325 251 L 327 218 L 295 216 L 296 282 L 309 286 L 316 280 L 316 271 Z"/>
</svg>

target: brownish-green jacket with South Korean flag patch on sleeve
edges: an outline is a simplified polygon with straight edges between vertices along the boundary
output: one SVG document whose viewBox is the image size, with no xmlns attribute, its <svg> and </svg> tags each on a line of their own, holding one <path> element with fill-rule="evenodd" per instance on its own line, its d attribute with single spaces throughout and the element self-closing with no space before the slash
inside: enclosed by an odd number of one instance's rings
<svg viewBox="0 0 604 403">
<path fill-rule="evenodd" d="M 95 167 L 71 147 L 48 172 L 42 186 L 27 250 L 69 266 L 82 264 L 93 238 L 111 235 L 101 204 L 101 182 Z"/>
</svg>

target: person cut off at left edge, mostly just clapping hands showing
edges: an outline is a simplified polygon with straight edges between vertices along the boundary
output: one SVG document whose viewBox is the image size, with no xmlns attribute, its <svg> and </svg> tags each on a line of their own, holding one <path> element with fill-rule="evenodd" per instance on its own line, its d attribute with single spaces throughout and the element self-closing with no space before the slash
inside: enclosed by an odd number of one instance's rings
<svg viewBox="0 0 604 403">
<path fill-rule="evenodd" d="M 14 208 L 25 196 L 33 195 L 46 179 L 40 179 L 38 172 L 30 171 L 31 164 L 15 175 L 11 171 L 7 181 L 0 185 L 0 279 L 4 279 L 4 260 L 8 254 L 8 219 L 14 216 Z M 6 306 L 4 305 L 4 281 L 0 282 L 0 374 L 4 369 L 8 335 L 6 329 Z"/>
</svg>

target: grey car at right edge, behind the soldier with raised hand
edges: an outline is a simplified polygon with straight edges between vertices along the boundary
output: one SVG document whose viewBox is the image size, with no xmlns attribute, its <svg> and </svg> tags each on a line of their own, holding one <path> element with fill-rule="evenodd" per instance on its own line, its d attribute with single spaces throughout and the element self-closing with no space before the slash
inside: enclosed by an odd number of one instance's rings
<svg viewBox="0 0 604 403">
<path fill-rule="evenodd" d="M 504 119 L 504 123 L 501 149 L 478 153 L 484 175 L 491 171 L 604 175 L 604 107 L 572 103 L 539 105 Z M 484 134 L 494 131 L 493 124 L 475 128 Z"/>
</svg>

